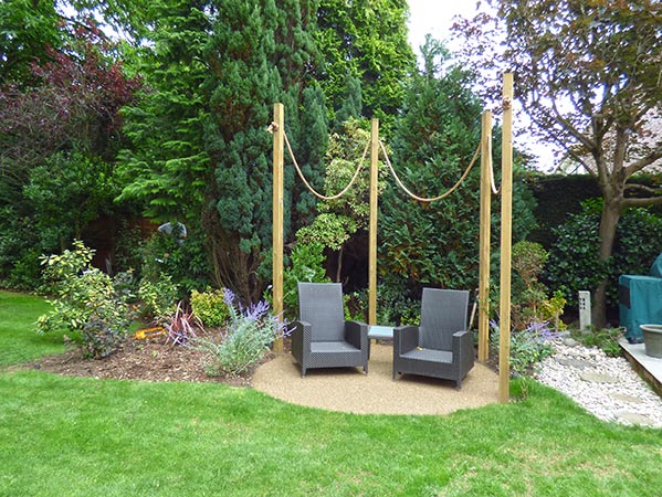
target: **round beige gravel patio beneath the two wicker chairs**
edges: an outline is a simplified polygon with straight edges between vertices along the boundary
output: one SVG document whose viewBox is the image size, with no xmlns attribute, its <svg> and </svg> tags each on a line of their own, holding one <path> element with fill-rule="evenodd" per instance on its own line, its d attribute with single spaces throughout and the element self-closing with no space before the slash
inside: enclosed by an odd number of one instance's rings
<svg viewBox="0 0 662 497">
<path fill-rule="evenodd" d="M 294 358 L 280 355 L 262 364 L 253 387 L 271 396 L 311 408 L 359 414 L 448 414 L 498 401 L 498 376 L 477 363 L 456 390 L 454 382 L 392 378 L 392 347 L 372 346 L 368 374 L 361 368 L 312 369 L 301 378 Z"/>
</svg>

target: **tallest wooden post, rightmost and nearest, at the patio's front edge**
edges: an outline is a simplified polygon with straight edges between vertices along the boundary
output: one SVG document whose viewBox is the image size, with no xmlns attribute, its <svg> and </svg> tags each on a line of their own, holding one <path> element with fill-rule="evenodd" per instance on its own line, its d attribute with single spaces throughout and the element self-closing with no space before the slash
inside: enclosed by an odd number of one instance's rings
<svg viewBox="0 0 662 497">
<path fill-rule="evenodd" d="M 503 78 L 498 401 L 511 396 L 511 248 L 513 243 L 513 73 Z"/>
</svg>

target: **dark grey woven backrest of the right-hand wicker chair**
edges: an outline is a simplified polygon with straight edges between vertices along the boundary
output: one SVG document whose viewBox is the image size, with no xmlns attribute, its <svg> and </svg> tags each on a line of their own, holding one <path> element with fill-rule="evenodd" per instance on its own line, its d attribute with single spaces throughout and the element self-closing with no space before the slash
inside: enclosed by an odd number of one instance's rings
<svg viewBox="0 0 662 497">
<path fill-rule="evenodd" d="M 419 343 L 427 349 L 451 350 L 453 334 L 466 329 L 467 290 L 423 288 Z"/>
</svg>

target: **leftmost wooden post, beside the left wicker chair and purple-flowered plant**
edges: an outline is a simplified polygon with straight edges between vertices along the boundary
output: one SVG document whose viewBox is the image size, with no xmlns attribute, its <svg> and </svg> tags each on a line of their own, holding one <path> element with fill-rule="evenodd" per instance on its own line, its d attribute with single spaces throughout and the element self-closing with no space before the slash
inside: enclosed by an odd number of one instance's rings
<svg viewBox="0 0 662 497">
<path fill-rule="evenodd" d="M 273 311 L 283 320 L 283 146 L 285 109 L 274 104 L 273 126 Z M 283 339 L 274 342 L 274 352 L 283 352 Z"/>
</svg>

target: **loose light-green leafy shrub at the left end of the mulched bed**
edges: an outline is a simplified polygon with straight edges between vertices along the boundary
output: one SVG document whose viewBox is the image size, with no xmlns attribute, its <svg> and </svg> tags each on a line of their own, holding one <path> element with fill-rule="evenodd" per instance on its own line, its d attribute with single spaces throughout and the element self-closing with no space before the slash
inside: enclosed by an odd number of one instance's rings
<svg viewBox="0 0 662 497">
<path fill-rule="evenodd" d="M 72 251 L 42 257 L 44 277 L 53 285 L 53 309 L 39 317 L 40 334 L 67 332 L 86 356 L 106 357 L 126 337 L 128 308 L 114 292 L 113 281 L 90 266 L 94 251 L 75 241 Z"/>
</svg>

